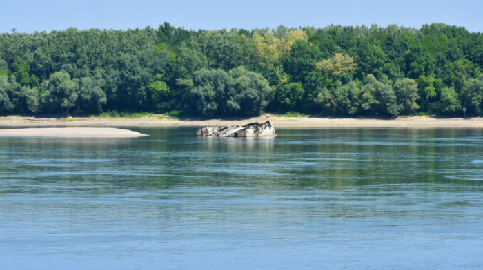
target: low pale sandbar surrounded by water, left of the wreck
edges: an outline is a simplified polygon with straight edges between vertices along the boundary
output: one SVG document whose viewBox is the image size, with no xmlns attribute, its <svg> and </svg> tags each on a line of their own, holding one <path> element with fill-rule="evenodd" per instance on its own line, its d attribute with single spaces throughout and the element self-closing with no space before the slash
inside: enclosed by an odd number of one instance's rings
<svg viewBox="0 0 483 270">
<path fill-rule="evenodd" d="M 71 138 L 134 138 L 147 136 L 139 132 L 112 127 L 43 127 L 0 129 L 0 136 L 39 136 Z"/>
</svg>

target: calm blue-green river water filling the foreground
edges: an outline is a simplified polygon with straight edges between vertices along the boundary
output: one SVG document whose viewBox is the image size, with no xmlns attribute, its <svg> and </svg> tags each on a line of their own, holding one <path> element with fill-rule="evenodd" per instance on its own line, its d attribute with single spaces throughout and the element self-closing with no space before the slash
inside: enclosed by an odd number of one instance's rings
<svg viewBox="0 0 483 270">
<path fill-rule="evenodd" d="M 483 269 L 483 130 L 0 138 L 0 269 Z"/>
</svg>

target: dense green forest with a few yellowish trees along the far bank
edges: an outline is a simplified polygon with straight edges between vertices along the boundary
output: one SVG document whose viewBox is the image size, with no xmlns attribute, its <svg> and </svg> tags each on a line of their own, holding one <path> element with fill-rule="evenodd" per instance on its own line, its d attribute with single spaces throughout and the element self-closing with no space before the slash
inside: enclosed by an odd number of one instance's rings
<svg viewBox="0 0 483 270">
<path fill-rule="evenodd" d="M 0 114 L 483 116 L 483 34 L 444 24 L 0 34 Z"/>
</svg>

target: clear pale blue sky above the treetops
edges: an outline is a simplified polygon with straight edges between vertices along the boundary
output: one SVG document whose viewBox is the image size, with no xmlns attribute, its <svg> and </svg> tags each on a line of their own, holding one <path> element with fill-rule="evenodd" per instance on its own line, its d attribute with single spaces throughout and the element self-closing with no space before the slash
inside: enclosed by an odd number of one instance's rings
<svg viewBox="0 0 483 270">
<path fill-rule="evenodd" d="M 188 30 L 435 22 L 483 32 L 482 11 L 483 0 L 0 0 L 0 32 L 157 28 L 164 21 Z"/>
</svg>

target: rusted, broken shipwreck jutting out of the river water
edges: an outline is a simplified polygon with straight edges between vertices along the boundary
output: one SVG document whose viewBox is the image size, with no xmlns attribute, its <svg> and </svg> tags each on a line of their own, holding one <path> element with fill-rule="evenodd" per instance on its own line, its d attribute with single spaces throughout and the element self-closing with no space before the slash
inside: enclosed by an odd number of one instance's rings
<svg viewBox="0 0 483 270">
<path fill-rule="evenodd" d="M 217 137 L 273 137 L 275 129 L 270 121 L 264 123 L 248 123 L 246 125 L 229 125 L 228 127 L 201 127 L 197 131 L 198 136 Z"/>
</svg>

